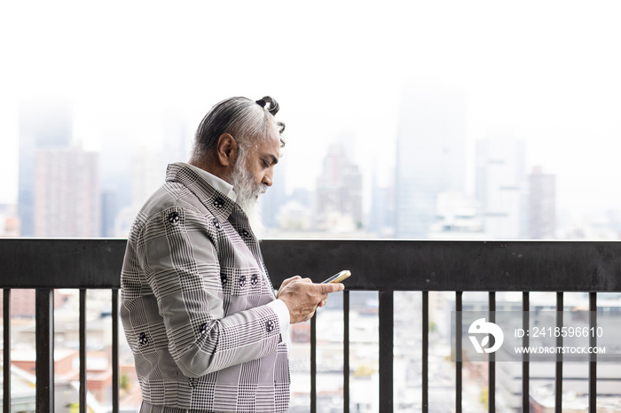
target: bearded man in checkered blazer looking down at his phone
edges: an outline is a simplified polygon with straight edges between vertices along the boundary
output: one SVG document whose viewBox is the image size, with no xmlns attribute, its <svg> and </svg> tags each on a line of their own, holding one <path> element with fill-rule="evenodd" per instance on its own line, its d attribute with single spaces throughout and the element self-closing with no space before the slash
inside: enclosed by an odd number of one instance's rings
<svg viewBox="0 0 621 413">
<path fill-rule="evenodd" d="M 232 97 L 200 122 L 130 230 L 122 323 L 141 412 L 286 411 L 287 328 L 342 284 L 288 278 L 274 294 L 248 220 L 271 186 L 284 124 L 271 97 Z"/>
</svg>

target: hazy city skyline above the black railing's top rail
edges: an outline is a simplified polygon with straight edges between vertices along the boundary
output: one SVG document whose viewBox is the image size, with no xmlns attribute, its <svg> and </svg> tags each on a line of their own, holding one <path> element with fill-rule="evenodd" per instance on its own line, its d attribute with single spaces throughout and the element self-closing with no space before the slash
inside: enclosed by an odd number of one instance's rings
<svg viewBox="0 0 621 413">
<path fill-rule="evenodd" d="M 388 183 L 363 175 L 342 143 L 325 148 L 312 187 L 287 179 L 295 160 L 283 157 L 262 199 L 265 238 L 619 239 L 621 208 L 568 219 L 557 176 L 546 165 L 527 170 L 527 139 L 510 129 L 478 139 L 467 170 L 464 107 L 448 93 L 404 99 Z M 73 123 L 68 103 L 21 105 L 19 176 L 6 178 L 19 181 L 19 194 L 0 205 L 0 236 L 126 237 L 166 165 L 188 159 L 194 130 L 170 115 L 161 149 L 130 153 L 110 139 L 92 152 L 74 138 Z"/>
</svg>

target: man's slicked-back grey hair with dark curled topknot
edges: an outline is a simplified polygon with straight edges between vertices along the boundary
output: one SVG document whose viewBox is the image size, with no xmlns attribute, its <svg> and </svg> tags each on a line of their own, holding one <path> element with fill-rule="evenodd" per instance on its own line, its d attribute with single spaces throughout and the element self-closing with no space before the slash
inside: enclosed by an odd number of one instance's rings
<svg viewBox="0 0 621 413">
<path fill-rule="evenodd" d="M 281 135 L 285 123 L 274 118 L 279 108 L 278 102 L 269 96 L 257 101 L 248 97 L 230 97 L 219 102 L 200 121 L 194 136 L 193 159 L 205 160 L 224 133 L 231 134 L 240 146 L 248 148 L 252 141 L 270 136 L 274 124 L 278 127 L 280 146 L 285 146 Z"/>
</svg>

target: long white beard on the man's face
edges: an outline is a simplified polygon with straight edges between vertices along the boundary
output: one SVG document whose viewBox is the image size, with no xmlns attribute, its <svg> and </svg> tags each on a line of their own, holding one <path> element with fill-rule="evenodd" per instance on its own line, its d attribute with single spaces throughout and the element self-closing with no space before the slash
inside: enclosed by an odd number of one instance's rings
<svg viewBox="0 0 621 413">
<path fill-rule="evenodd" d="M 240 152 L 240 157 L 231 174 L 231 183 L 237 196 L 236 202 L 241 210 L 248 215 L 250 228 L 255 233 L 257 239 L 261 239 L 265 232 L 265 224 L 261 218 L 261 207 L 258 198 L 267 191 L 267 186 L 263 183 L 255 184 L 253 176 L 250 174 L 246 166 L 246 154 Z"/>
</svg>

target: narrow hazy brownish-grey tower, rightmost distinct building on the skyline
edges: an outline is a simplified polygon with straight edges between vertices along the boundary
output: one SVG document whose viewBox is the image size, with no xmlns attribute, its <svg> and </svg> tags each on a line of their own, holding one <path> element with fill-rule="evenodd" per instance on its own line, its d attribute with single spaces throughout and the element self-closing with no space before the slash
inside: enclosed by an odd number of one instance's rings
<svg viewBox="0 0 621 413">
<path fill-rule="evenodd" d="M 532 239 L 554 239 L 556 233 L 556 176 L 541 167 L 529 175 L 529 234 Z"/>
</svg>

